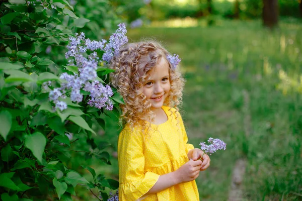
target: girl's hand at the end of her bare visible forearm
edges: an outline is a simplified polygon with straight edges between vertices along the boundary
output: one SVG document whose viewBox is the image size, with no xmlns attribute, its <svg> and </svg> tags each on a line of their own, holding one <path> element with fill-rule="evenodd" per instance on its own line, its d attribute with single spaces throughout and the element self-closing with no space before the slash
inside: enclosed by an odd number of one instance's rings
<svg viewBox="0 0 302 201">
<path fill-rule="evenodd" d="M 179 183 L 193 181 L 199 176 L 201 160 L 189 160 L 175 171 Z"/>
</svg>

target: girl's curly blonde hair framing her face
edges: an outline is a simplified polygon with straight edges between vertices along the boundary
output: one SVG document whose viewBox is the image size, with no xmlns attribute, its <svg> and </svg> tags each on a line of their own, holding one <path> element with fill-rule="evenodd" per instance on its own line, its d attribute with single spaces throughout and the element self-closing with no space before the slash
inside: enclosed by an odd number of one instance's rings
<svg viewBox="0 0 302 201">
<path fill-rule="evenodd" d="M 129 43 L 121 48 L 113 57 L 110 68 L 115 72 L 110 74 L 110 79 L 122 95 L 125 105 L 120 105 L 123 126 L 142 125 L 145 127 L 146 118 L 153 121 L 155 114 L 151 110 L 152 104 L 143 94 L 143 83 L 148 73 L 162 58 L 166 59 L 169 52 L 155 41 Z M 168 60 L 167 60 L 168 61 Z M 178 69 L 172 69 L 169 63 L 170 91 L 164 105 L 175 108 L 181 104 L 184 79 Z"/>
</svg>

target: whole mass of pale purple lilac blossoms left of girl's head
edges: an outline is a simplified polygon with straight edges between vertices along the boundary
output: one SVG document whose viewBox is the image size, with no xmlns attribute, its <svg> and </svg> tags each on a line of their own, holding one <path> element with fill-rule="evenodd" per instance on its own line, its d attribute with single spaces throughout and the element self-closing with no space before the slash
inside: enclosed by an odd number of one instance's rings
<svg viewBox="0 0 302 201">
<path fill-rule="evenodd" d="M 83 94 L 81 90 L 90 92 L 90 99 L 88 105 L 96 107 L 98 109 L 105 108 L 106 110 L 113 109 L 113 103 L 110 97 L 113 95 L 113 91 L 109 85 L 104 86 L 97 81 L 97 68 L 100 62 L 95 50 L 99 49 L 104 51 L 103 60 L 109 62 L 109 55 L 114 55 L 119 51 L 121 45 L 128 42 L 126 34 L 126 28 L 124 24 L 119 24 L 119 29 L 110 37 L 109 43 L 106 44 L 106 40 L 91 41 L 85 39 L 85 34 L 75 34 L 75 38 L 69 38 L 69 44 L 67 45 L 68 51 L 65 53 L 65 57 L 71 59 L 67 65 L 77 66 L 78 73 L 67 74 L 62 73 L 60 79 L 64 80 L 61 87 L 54 88 L 49 92 L 49 100 L 55 104 L 54 109 L 63 111 L 67 108 L 67 104 L 59 98 L 66 98 L 67 92 L 70 95 L 72 102 L 80 103 L 83 100 Z M 106 47 L 104 48 L 106 44 Z M 87 50 L 92 51 L 88 57 L 83 56 Z M 105 59 L 104 59 L 104 55 Z"/>
</svg>

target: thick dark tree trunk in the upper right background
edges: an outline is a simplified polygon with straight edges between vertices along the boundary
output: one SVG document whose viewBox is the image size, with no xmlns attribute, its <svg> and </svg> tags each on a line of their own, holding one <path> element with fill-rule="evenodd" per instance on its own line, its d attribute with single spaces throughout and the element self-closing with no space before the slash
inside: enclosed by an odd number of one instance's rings
<svg viewBox="0 0 302 201">
<path fill-rule="evenodd" d="M 263 25 L 273 29 L 278 25 L 278 0 L 263 0 Z"/>
</svg>

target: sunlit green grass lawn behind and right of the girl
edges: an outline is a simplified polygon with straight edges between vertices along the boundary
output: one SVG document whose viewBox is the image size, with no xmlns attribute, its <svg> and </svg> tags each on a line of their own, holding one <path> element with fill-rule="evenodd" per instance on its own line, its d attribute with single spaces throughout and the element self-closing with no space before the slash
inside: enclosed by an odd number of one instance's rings
<svg viewBox="0 0 302 201">
<path fill-rule="evenodd" d="M 217 21 L 127 35 L 130 41 L 160 40 L 182 58 L 189 142 L 198 147 L 213 137 L 228 144 L 197 179 L 201 200 L 228 200 L 239 158 L 247 159 L 243 200 L 302 200 L 301 95 L 277 89 L 281 69 L 293 79 L 302 73 L 300 22 L 283 21 L 274 32 L 260 21 Z M 109 137 L 115 143 L 116 135 Z"/>
</svg>

